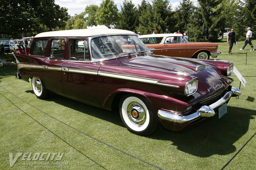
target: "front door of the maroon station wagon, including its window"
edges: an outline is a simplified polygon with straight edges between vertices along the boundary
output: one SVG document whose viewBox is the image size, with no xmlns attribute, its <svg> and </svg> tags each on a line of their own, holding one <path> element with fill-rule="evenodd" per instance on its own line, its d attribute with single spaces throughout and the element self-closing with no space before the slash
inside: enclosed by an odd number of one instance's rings
<svg viewBox="0 0 256 170">
<path fill-rule="evenodd" d="M 84 47 L 78 42 L 84 41 Z M 99 106 L 98 70 L 100 65 L 90 62 L 87 39 L 69 40 L 69 57 L 62 66 L 65 96 Z"/>
</svg>

